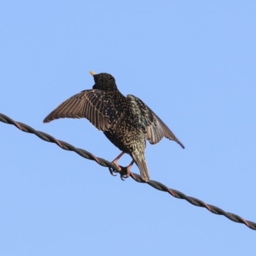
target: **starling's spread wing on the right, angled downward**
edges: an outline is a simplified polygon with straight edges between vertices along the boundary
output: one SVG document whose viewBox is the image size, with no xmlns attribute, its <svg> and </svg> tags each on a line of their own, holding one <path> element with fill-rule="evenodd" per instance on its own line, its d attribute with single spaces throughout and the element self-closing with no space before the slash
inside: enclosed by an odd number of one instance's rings
<svg viewBox="0 0 256 256">
<path fill-rule="evenodd" d="M 127 95 L 127 98 L 131 100 L 132 109 L 135 109 L 134 111 L 138 114 L 141 129 L 145 132 L 150 144 L 156 144 L 166 137 L 185 148 L 166 124 L 142 100 L 133 95 Z"/>
</svg>

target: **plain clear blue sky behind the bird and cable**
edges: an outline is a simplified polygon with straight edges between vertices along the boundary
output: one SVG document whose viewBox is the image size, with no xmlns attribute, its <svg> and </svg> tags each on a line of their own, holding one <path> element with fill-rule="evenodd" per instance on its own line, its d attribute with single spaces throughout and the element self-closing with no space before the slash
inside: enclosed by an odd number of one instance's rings
<svg viewBox="0 0 256 256">
<path fill-rule="evenodd" d="M 89 70 L 108 72 L 186 147 L 148 144 L 151 179 L 256 221 L 255 13 L 234 0 L 1 1 L 0 112 L 111 161 L 120 151 L 87 120 L 42 123 L 92 88 Z M 1 255 L 255 255 L 245 225 L 0 129 Z"/>
</svg>

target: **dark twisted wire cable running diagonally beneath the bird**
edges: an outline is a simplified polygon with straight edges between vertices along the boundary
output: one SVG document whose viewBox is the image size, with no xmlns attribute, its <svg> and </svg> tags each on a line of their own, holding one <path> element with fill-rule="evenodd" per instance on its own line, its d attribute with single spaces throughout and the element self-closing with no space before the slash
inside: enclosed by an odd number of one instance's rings
<svg viewBox="0 0 256 256">
<path fill-rule="evenodd" d="M 96 163 L 100 164 L 101 166 L 108 167 L 108 168 L 110 168 L 109 170 L 113 170 L 113 172 L 118 172 L 115 164 L 110 163 L 106 159 L 103 159 L 103 158 L 100 158 L 100 157 L 95 157 L 92 153 L 90 153 L 90 152 L 88 152 L 88 151 L 86 151 L 82 148 L 76 148 L 76 147 L 70 145 L 69 143 L 67 143 L 65 141 L 56 140 L 56 138 L 52 137 L 51 135 L 49 135 L 45 132 L 36 131 L 35 129 L 33 129 L 29 125 L 22 124 L 20 122 L 15 122 L 14 120 L 12 120 L 12 118 L 10 118 L 6 115 L 3 115 L 1 113 L 0 113 L 0 121 L 5 123 L 5 124 L 12 124 L 15 127 L 17 127 L 18 129 L 20 129 L 20 131 L 35 134 L 41 140 L 51 142 L 51 143 L 55 143 L 56 145 L 58 145 L 62 149 L 76 152 L 77 154 L 79 154 L 79 156 L 82 156 L 86 159 L 93 160 Z M 122 168 L 122 166 L 121 166 L 121 168 Z M 180 191 L 168 188 L 164 184 L 162 184 L 161 182 L 158 182 L 156 180 L 150 180 L 149 182 L 145 182 L 141 179 L 141 176 L 138 175 L 137 173 L 131 173 L 131 177 L 136 182 L 146 183 L 149 186 L 152 186 L 153 188 L 155 188 L 157 190 L 169 193 L 170 195 L 172 195 L 175 198 L 184 199 L 184 200 L 188 201 L 190 204 L 193 204 L 193 205 L 198 206 L 198 207 L 204 207 L 208 211 L 210 211 L 214 214 L 223 215 L 223 216 L 227 217 L 229 220 L 232 220 L 232 221 L 237 222 L 237 223 L 243 223 L 248 228 L 251 228 L 252 230 L 256 230 L 256 223 L 253 222 L 253 221 L 244 220 L 243 218 L 241 218 L 240 216 L 238 216 L 234 213 L 225 212 L 222 209 L 220 209 L 219 207 L 216 207 L 216 206 L 211 205 L 211 204 L 205 204 L 205 202 L 203 202 L 203 201 L 201 201 L 201 200 L 199 200 L 195 197 L 187 196 L 187 195 L 185 195 L 184 193 L 182 193 Z"/>
</svg>

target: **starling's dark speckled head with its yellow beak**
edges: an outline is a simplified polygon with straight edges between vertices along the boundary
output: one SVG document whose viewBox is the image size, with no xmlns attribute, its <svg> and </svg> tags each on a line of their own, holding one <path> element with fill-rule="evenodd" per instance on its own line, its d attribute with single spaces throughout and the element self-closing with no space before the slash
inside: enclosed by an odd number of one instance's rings
<svg viewBox="0 0 256 256">
<path fill-rule="evenodd" d="M 95 74 L 90 71 L 90 74 L 93 76 L 95 84 L 93 89 L 103 90 L 105 92 L 111 92 L 117 90 L 116 81 L 113 76 L 108 73 Z"/>
</svg>

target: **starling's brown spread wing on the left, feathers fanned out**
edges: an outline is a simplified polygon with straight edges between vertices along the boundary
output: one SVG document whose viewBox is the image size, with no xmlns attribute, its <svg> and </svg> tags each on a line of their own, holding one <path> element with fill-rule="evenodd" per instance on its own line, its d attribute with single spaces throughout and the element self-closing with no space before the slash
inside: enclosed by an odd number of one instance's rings
<svg viewBox="0 0 256 256">
<path fill-rule="evenodd" d="M 111 99 L 102 90 L 84 90 L 65 100 L 44 119 L 49 123 L 58 118 L 87 118 L 100 131 L 111 123 Z"/>
</svg>

